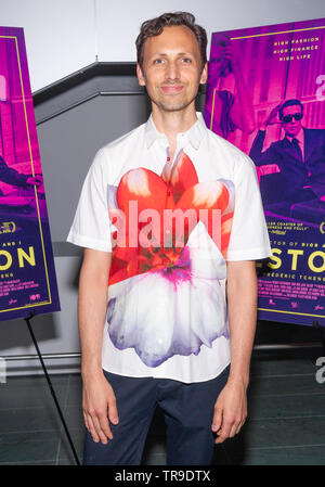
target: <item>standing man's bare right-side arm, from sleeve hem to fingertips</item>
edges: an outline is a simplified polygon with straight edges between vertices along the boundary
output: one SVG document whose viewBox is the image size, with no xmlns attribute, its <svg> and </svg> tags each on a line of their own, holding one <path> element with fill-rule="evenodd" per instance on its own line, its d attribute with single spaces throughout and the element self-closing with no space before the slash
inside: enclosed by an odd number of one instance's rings
<svg viewBox="0 0 325 487">
<path fill-rule="evenodd" d="M 255 260 L 227 262 L 227 313 L 231 369 L 220 393 L 212 420 L 216 444 L 239 432 L 247 416 L 249 364 L 257 320 L 257 274 Z"/>
</svg>

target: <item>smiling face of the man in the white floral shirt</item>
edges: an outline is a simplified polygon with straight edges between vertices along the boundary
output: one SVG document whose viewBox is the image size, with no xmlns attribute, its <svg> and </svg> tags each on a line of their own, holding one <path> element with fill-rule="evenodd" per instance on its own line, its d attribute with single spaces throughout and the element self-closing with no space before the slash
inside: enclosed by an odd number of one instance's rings
<svg viewBox="0 0 325 487">
<path fill-rule="evenodd" d="M 153 105 L 164 112 L 182 111 L 192 103 L 194 106 L 198 86 L 207 79 L 196 37 L 185 26 L 165 27 L 159 36 L 150 37 L 144 44 L 143 66 L 138 65 L 136 73 Z"/>
</svg>

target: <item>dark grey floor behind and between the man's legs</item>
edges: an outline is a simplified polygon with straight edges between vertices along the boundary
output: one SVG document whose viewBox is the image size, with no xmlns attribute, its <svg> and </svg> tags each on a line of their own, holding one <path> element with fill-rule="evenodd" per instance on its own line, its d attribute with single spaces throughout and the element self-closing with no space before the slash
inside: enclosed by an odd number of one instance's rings
<svg viewBox="0 0 325 487">
<path fill-rule="evenodd" d="M 249 418 L 239 435 L 216 447 L 216 464 L 325 464 L 325 383 L 316 381 L 320 368 L 315 366 L 324 355 L 320 333 L 307 326 L 259 323 L 256 345 L 275 342 L 312 346 L 253 351 Z M 325 379 L 325 372 L 322 376 Z M 80 375 L 51 375 L 51 380 L 81 459 Z M 165 425 L 159 411 L 147 437 L 143 463 L 166 464 Z M 9 377 L 0 384 L 0 464 L 75 464 L 43 376 Z"/>
</svg>

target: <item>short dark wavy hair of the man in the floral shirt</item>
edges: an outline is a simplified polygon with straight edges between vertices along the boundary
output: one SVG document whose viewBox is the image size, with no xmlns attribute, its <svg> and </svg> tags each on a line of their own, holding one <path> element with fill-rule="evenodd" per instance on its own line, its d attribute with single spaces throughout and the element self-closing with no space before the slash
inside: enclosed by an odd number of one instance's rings
<svg viewBox="0 0 325 487">
<path fill-rule="evenodd" d="M 188 27 L 196 37 L 198 49 L 202 59 L 202 67 L 207 62 L 207 33 L 204 27 L 195 24 L 195 16 L 188 12 L 173 12 L 173 13 L 164 13 L 159 15 L 159 17 L 152 18 L 150 21 L 145 21 L 140 29 L 140 34 L 135 40 L 136 46 L 136 61 L 142 68 L 143 64 L 143 51 L 145 41 L 150 37 L 159 36 L 164 27 L 173 27 L 173 26 L 182 26 Z"/>
</svg>

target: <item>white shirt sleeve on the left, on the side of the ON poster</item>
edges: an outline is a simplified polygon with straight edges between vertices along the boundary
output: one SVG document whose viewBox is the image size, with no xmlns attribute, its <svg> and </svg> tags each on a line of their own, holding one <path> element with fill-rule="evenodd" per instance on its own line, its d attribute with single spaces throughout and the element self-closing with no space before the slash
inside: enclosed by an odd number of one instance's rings
<svg viewBox="0 0 325 487">
<path fill-rule="evenodd" d="M 100 150 L 84 179 L 67 242 L 95 251 L 112 252 L 107 182 L 103 174 L 105 155 Z"/>
</svg>

